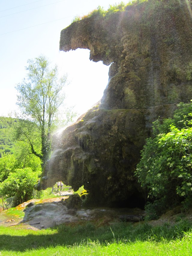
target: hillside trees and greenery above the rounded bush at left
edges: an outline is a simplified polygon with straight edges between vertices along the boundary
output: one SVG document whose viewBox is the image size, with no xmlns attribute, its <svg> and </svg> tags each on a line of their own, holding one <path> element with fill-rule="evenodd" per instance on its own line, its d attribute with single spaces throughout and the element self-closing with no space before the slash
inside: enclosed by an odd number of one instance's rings
<svg viewBox="0 0 192 256">
<path fill-rule="evenodd" d="M 29 144 L 25 142 L 26 137 L 20 136 L 19 141 L 16 141 L 18 133 L 27 131 L 26 122 L 29 121 L 0 117 L 0 142 L 3 143 L 0 157 L 0 182 L 7 179 L 8 174 L 17 168 L 31 167 L 33 171 L 41 170 L 41 161 L 30 152 Z M 37 125 L 29 122 L 28 126 L 31 127 L 31 137 L 35 137 Z M 40 139 L 36 137 L 33 140 L 35 149 L 41 147 Z"/>
</svg>

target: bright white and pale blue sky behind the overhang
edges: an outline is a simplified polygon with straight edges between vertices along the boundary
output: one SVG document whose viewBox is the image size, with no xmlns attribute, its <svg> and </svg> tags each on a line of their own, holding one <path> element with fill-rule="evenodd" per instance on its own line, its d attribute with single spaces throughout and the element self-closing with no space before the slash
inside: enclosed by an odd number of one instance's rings
<svg viewBox="0 0 192 256">
<path fill-rule="evenodd" d="M 121 2 L 121 1 L 119 1 Z M 127 1 L 126 1 L 127 2 Z M 0 116 L 16 110 L 17 83 L 26 76 L 28 59 L 45 55 L 68 73 L 67 104 L 82 114 L 103 96 L 109 66 L 89 60 L 89 50 L 59 52 L 60 32 L 75 16 L 99 5 L 108 9 L 116 0 L 1 0 Z"/>
</svg>

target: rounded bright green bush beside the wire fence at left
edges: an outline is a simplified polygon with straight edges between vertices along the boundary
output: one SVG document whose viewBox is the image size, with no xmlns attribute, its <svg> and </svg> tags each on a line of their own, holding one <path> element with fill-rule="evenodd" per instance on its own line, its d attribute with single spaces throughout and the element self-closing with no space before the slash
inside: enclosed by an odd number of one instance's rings
<svg viewBox="0 0 192 256">
<path fill-rule="evenodd" d="M 0 183 L 0 194 L 5 197 L 15 196 L 15 205 L 32 199 L 33 186 L 40 172 L 31 168 L 16 169 L 9 173 L 7 179 Z"/>
</svg>

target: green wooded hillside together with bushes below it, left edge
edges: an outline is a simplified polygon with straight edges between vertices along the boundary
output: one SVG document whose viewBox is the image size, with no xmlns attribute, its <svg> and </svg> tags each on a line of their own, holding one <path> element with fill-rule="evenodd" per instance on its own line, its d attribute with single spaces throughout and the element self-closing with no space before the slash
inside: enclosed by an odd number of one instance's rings
<svg viewBox="0 0 192 256">
<path fill-rule="evenodd" d="M 0 117 L 0 195 L 15 197 L 15 204 L 31 199 L 33 186 L 42 170 L 40 159 L 32 154 L 23 137 L 26 127 L 38 129 L 35 123 L 27 120 Z M 37 137 L 34 147 L 41 150 Z"/>
</svg>

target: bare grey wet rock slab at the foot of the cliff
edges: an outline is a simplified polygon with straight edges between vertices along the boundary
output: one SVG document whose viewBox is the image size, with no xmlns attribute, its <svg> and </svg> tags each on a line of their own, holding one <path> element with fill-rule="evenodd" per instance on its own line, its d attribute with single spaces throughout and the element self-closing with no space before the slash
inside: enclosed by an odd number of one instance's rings
<svg viewBox="0 0 192 256">
<path fill-rule="evenodd" d="M 111 209 L 111 208 L 94 208 L 94 209 L 68 209 L 62 202 L 53 203 L 41 203 L 36 206 L 27 207 L 25 211 L 25 216 L 23 222 L 28 222 L 30 226 L 42 229 L 48 227 L 54 227 L 60 224 L 80 222 L 80 221 L 101 221 L 104 224 L 110 224 L 114 221 L 125 221 L 122 216 L 128 216 L 128 214 L 138 214 L 141 215 L 144 212 L 140 209 Z M 126 213 L 126 215 L 121 215 Z M 129 220 L 126 221 L 138 222 L 142 218 L 138 218 L 134 215 Z"/>
</svg>

